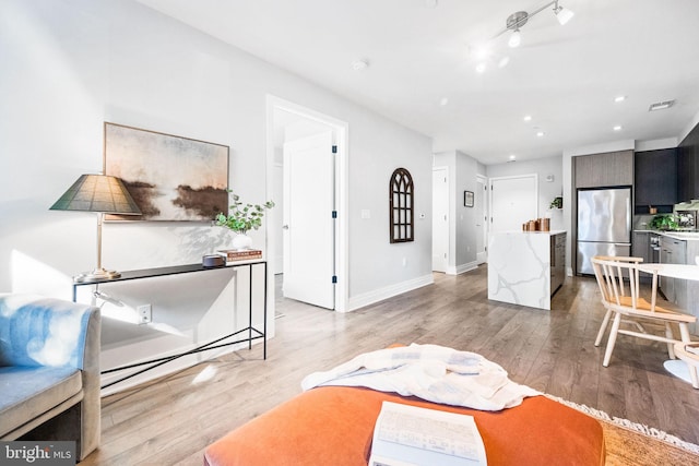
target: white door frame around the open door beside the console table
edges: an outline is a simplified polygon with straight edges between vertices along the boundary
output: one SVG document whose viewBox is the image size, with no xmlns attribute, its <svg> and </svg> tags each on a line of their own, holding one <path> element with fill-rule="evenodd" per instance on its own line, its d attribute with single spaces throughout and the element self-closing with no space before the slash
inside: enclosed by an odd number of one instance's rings
<svg viewBox="0 0 699 466">
<path fill-rule="evenodd" d="M 337 145 L 337 159 L 335 160 L 335 208 L 337 211 L 337 219 L 335 224 L 335 275 L 337 283 L 335 284 L 335 311 L 346 312 L 348 302 L 348 264 L 347 264 L 347 250 L 348 250 L 348 222 L 347 222 L 347 142 L 350 127 L 347 122 L 295 104 L 289 100 L 285 100 L 274 95 L 266 95 L 266 195 L 268 199 L 272 199 L 271 195 L 274 192 L 274 111 L 284 110 L 291 113 L 298 115 L 309 120 L 318 121 L 327 124 L 333 129 L 336 134 Z M 330 213 L 329 213 L 330 215 Z M 276 256 L 275 237 L 281 235 L 281 231 L 266 230 L 268 234 L 268 260 L 274 261 Z M 270 267 L 274 270 L 274 264 Z M 329 277 L 330 278 L 330 277 Z M 271 279 L 274 279 L 274 274 L 271 274 Z M 274 283 L 271 284 L 271 289 L 274 290 Z M 274 302 L 274 300 L 272 300 Z"/>
</svg>

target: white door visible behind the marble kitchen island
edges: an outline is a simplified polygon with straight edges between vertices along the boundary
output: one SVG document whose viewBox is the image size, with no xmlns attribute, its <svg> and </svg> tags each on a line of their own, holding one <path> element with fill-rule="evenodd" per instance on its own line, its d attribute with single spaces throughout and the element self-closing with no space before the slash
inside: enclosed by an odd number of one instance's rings
<svg viewBox="0 0 699 466">
<path fill-rule="evenodd" d="M 490 231 L 521 231 L 522 224 L 537 215 L 536 174 L 490 178 Z"/>
</svg>

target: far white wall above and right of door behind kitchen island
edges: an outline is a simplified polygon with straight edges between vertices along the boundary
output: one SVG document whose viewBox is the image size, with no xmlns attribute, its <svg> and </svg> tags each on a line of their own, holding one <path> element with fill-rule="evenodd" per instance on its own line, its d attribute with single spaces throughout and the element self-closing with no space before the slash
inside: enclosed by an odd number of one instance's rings
<svg viewBox="0 0 699 466">
<path fill-rule="evenodd" d="M 537 174 L 538 216 L 549 216 L 552 229 L 567 229 L 564 222 L 562 211 L 552 211 L 550 208 L 548 208 L 554 198 L 562 195 L 564 193 L 562 157 L 546 157 L 537 158 L 534 160 L 518 160 L 505 164 L 488 165 L 486 170 L 488 178 Z M 553 177 L 552 181 L 547 181 L 549 177 Z M 566 199 L 567 198 L 564 196 L 564 206 L 567 204 Z"/>
</svg>

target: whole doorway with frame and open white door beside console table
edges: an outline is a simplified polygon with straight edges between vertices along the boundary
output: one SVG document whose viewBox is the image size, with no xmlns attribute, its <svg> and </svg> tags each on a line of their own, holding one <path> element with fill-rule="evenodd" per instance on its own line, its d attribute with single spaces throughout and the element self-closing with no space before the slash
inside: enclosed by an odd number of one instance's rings
<svg viewBox="0 0 699 466">
<path fill-rule="evenodd" d="M 285 297 L 344 312 L 347 123 L 274 96 L 268 96 L 266 111 L 268 194 L 282 193 L 280 208 L 273 211 L 275 218 L 268 230 L 268 260 L 273 262 L 270 270 L 283 272 Z M 321 159 L 313 162 L 317 154 L 311 154 L 311 147 L 317 146 L 318 138 L 332 141 L 325 154 L 333 160 L 330 168 L 321 168 Z M 313 182 L 309 182 L 310 178 Z M 317 212 L 321 207 L 309 205 L 308 199 L 321 200 L 322 210 L 328 212 Z M 311 222 L 321 223 L 322 228 L 320 224 L 313 228 Z M 318 241 L 313 241 L 313 235 Z M 309 241 L 313 244 L 312 261 Z"/>
</svg>

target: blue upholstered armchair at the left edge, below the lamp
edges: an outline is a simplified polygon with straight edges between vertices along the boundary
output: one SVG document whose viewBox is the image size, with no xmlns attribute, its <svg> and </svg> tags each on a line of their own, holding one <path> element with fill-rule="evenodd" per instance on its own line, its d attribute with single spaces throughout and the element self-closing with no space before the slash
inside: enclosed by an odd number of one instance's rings
<svg viewBox="0 0 699 466">
<path fill-rule="evenodd" d="M 99 444 L 99 310 L 0 294 L 0 440 Z"/>
</svg>

